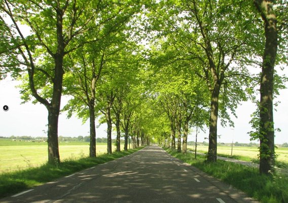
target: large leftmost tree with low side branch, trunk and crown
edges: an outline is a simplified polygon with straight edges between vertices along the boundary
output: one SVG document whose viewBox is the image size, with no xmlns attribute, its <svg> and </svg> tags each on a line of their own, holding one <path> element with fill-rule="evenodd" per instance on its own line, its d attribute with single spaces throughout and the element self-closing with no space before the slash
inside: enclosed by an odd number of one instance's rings
<svg viewBox="0 0 288 203">
<path fill-rule="evenodd" d="M 1 1 L 2 19 L 10 39 L 6 54 L 14 60 L 12 73 L 26 67 L 23 98 L 32 95 L 48 110 L 48 162 L 60 162 L 58 117 L 62 94 L 65 56 L 88 43 L 85 36 L 93 32 L 94 3 L 83 1 Z M 19 23 L 25 24 L 19 26 Z M 30 33 L 25 33 L 24 30 Z M 6 38 L 7 40 L 7 38 Z M 7 41 L 6 41 L 7 42 Z M 16 57 L 19 56 L 19 57 Z M 13 74 L 12 74 L 13 75 Z"/>
</svg>

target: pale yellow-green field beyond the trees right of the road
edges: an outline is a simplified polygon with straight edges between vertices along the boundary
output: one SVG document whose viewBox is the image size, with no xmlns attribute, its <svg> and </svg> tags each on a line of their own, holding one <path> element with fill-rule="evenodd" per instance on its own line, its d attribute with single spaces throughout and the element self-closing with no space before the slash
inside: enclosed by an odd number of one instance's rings
<svg viewBox="0 0 288 203">
<path fill-rule="evenodd" d="M 194 146 L 188 146 L 188 149 L 194 150 Z M 197 146 L 198 152 L 207 152 L 208 146 Z M 288 163 L 288 148 L 275 149 L 277 161 Z M 231 155 L 231 147 L 218 146 L 217 153 L 221 155 Z M 233 147 L 233 156 L 238 156 L 240 160 L 251 161 L 258 159 L 259 149 L 257 147 Z"/>
</svg>

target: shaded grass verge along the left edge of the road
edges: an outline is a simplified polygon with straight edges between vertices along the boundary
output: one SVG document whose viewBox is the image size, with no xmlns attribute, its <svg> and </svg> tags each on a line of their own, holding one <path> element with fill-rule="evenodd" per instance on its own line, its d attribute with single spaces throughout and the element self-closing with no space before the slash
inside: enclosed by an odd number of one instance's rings
<svg viewBox="0 0 288 203">
<path fill-rule="evenodd" d="M 132 154 L 142 148 L 114 152 L 113 154 L 101 154 L 96 158 L 69 158 L 56 166 L 46 163 L 40 167 L 0 174 L 0 198 Z"/>
</svg>

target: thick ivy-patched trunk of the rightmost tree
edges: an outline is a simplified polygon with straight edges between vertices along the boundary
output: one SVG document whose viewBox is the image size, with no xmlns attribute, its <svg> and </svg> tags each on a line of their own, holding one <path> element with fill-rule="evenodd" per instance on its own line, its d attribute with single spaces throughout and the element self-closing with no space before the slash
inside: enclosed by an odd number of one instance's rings
<svg viewBox="0 0 288 203">
<path fill-rule="evenodd" d="M 260 173 L 269 174 L 275 164 L 273 122 L 273 77 L 278 48 L 277 19 L 272 1 L 255 0 L 265 26 L 265 50 L 260 84 Z"/>
</svg>

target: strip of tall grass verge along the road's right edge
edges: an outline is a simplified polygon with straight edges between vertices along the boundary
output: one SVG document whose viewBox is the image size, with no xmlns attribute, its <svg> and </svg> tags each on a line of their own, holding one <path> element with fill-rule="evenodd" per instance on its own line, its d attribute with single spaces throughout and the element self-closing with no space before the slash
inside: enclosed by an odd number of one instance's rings
<svg viewBox="0 0 288 203">
<path fill-rule="evenodd" d="M 258 168 L 222 160 L 208 163 L 204 156 L 197 155 L 195 159 L 194 154 L 191 153 L 183 154 L 170 149 L 165 150 L 172 156 L 242 190 L 263 203 L 288 202 L 288 177 L 283 174 L 273 174 L 268 177 L 260 175 Z"/>
</svg>

